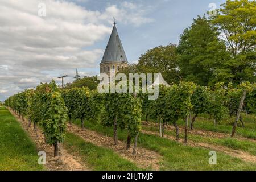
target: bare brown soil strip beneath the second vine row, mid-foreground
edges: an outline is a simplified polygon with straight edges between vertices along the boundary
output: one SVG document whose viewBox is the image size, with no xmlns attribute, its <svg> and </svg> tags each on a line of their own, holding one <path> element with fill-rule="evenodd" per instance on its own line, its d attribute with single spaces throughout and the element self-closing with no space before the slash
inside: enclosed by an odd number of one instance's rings
<svg viewBox="0 0 256 182">
<path fill-rule="evenodd" d="M 113 137 L 107 137 L 89 129 L 82 131 L 81 128 L 76 125 L 68 126 L 68 131 L 79 135 L 86 142 L 112 149 L 114 152 L 122 156 L 122 158 L 137 164 L 138 167 L 152 170 L 160 169 L 159 161 L 162 159 L 162 156 L 155 151 L 137 147 L 137 154 L 133 155 L 133 145 L 131 145 L 129 150 L 126 150 L 126 143 L 118 140 L 118 144 L 115 145 Z"/>
</svg>

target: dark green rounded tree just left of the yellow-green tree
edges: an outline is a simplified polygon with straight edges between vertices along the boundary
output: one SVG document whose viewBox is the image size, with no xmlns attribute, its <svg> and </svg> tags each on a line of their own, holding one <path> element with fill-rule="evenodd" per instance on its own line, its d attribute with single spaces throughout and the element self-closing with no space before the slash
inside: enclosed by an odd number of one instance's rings
<svg viewBox="0 0 256 182">
<path fill-rule="evenodd" d="M 217 28 L 205 16 L 198 16 L 191 27 L 180 36 L 177 52 L 181 77 L 204 86 L 225 81 L 222 65 L 229 58 L 223 41 L 218 39 Z"/>
</svg>

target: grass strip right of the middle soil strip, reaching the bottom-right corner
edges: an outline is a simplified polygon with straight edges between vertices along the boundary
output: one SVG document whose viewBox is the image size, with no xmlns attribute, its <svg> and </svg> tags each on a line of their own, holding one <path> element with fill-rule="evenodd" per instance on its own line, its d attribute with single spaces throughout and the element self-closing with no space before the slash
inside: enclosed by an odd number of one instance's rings
<svg viewBox="0 0 256 182">
<path fill-rule="evenodd" d="M 80 125 L 79 121 L 75 121 Z M 113 129 L 96 126 L 85 122 L 85 127 L 102 135 L 113 137 Z M 118 139 L 126 141 L 127 131 L 118 130 Z M 210 165 L 209 149 L 204 147 L 185 146 L 174 140 L 158 137 L 152 134 L 139 133 L 138 146 L 158 152 L 163 156 L 160 160 L 160 170 L 255 170 L 256 164 L 234 158 L 223 152 L 217 152 L 217 165 Z"/>
</svg>

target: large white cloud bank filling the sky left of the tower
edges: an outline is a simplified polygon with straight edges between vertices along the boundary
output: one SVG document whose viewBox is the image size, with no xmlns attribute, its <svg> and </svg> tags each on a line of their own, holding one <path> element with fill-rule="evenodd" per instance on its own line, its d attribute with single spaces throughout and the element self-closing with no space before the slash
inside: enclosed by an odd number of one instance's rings
<svg viewBox="0 0 256 182">
<path fill-rule="evenodd" d="M 42 2 L 46 17 L 38 16 Z M 0 100 L 50 81 L 56 72 L 73 74 L 75 68 L 97 68 L 104 50 L 86 47 L 109 36 L 113 16 L 124 24 L 139 26 L 152 21 L 147 13 L 142 5 L 129 2 L 109 5 L 100 12 L 67 1 L 2 0 Z"/>
</svg>

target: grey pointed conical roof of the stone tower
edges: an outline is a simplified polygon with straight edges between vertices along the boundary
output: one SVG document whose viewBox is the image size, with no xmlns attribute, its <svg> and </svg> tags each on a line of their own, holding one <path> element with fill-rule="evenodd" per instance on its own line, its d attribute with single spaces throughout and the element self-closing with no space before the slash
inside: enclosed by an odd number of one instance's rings
<svg viewBox="0 0 256 182">
<path fill-rule="evenodd" d="M 125 50 L 123 49 L 121 40 L 119 38 L 117 27 L 115 26 L 115 19 L 114 19 L 114 26 L 112 33 L 109 38 L 108 45 L 106 46 L 104 55 L 102 57 L 101 63 L 107 62 L 126 62 L 128 63 Z"/>
</svg>

